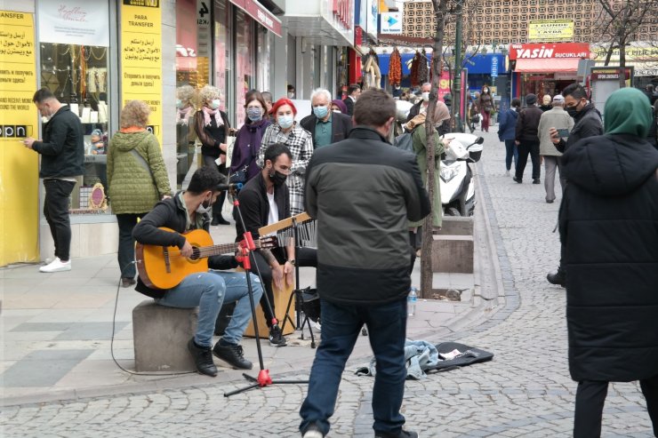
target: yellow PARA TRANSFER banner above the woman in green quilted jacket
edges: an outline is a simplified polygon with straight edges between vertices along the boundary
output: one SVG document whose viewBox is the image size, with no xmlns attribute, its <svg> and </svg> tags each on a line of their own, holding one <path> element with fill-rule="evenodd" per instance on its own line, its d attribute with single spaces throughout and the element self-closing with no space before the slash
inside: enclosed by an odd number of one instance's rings
<svg viewBox="0 0 658 438">
<path fill-rule="evenodd" d="M 121 5 L 121 102 L 144 100 L 148 130 L 162 147 L 162 11 L 157 0 Z"/>
</svg>

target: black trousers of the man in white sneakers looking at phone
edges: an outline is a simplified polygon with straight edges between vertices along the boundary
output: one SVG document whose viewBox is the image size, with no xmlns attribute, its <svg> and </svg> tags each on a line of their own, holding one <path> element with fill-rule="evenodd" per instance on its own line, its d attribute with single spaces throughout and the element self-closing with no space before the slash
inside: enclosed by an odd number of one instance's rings
<svg viewBox="0 0 658 438">
<path fill-rule="evenodd" d="M 51 228 L 55 243 L 55 257 L 62 261 L 70 259 L 71 219 L 68 213 L 69 196 L 76 187 L 73 181 L 44 179 L 44 217 Z"/>
</svg>

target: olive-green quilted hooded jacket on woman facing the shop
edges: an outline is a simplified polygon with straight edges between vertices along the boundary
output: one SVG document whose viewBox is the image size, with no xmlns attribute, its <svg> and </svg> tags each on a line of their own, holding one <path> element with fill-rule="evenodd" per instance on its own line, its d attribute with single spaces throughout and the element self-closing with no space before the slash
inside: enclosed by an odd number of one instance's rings
<svg viewBox="0 0 658 438">
<path fill-rule="evenodd" d="M 109 141 L 108 195 L 115 214 L 146 213 L 172 195 L 156 136 L 116 132 Z"/>
</svg>

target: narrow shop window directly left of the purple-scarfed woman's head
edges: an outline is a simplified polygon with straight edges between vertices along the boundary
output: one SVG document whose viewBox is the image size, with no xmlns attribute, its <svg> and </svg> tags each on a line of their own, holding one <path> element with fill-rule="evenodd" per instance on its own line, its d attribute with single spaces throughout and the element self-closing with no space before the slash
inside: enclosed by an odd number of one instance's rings
<svg viewBox="0 0 658 438">
<path fill-rule="evenodd" d="M 236 127 L 245 123 L 245 94 L 255 86 L 253 19 L 236 12 Z"/>
</svg>

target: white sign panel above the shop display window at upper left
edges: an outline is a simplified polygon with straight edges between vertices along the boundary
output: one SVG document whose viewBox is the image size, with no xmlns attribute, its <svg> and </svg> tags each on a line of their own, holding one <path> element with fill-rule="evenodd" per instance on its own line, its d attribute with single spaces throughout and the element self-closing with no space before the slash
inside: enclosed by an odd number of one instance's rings
<svg viewBox="0 0 658 438">
<path fill-rule="evenodd" d="M 42 43 L 109 46 L 108 8 L 88 0 L 39 4 L 39 41 Z"/>
</svg>

